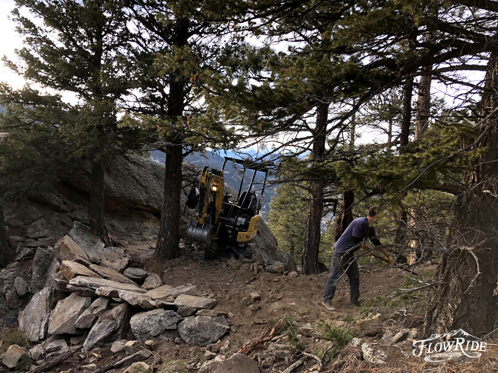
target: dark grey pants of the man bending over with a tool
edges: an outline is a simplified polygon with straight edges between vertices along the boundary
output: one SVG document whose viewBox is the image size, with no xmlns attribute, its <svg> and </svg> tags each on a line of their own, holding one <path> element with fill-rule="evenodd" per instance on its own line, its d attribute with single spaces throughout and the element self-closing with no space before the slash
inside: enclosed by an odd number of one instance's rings
<svg viewBox="0 0 498 373">
<path fill-rule="evenodd" d="M 330 271 L 329 279 L 325 284 L 325 291 L 323 293 L 323 302 L 330 303 L 336 292 L 337 281 L 341 278 L 342 274 L 346 271 L 349 278 L 349 290 L 351 301 L 356 303 L 360 297 L 360 271 L 358 270 L 358 263 L 355 260 L 355 255 L 352 252 L 336 254 L 332 258 L 332 270 Z"/>
</svg>

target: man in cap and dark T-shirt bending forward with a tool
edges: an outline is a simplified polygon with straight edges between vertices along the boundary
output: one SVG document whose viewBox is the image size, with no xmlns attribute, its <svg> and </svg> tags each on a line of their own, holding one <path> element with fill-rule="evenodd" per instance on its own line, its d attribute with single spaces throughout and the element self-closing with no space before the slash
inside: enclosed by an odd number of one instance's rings
<svg viewBox="0 0 498 373">
<path fill-rule="evenodd" d="M 360 297 L 360 271 L 358 270 L 358 263 L 356 262 L 354 252 L 359 249 L 356 246 L 367 238 L 370 239 L 373 245 L 381 245 L 375 235 L 375 228 L 372 226 L 373 217 L 376 214 L 377 207 L 374 206 L 369 209 L 367 217 L 353 220 L 334 245 L 332 269 L 325 284 L 322 302 L 325 308 L 330 311 L 336 310 L 332 305 L 332 298 L 334 298 L 337 281 L 339 281 L 345 271 L 349 278 L 351 303 L 356 306 L 360 306 L 361 304 L 358 299 Z M 379 248 L 378 250 L 385 255 L 386 259 L 392 265 L 393 260 L 387 251 L 384 248 Z"/>
</svg>

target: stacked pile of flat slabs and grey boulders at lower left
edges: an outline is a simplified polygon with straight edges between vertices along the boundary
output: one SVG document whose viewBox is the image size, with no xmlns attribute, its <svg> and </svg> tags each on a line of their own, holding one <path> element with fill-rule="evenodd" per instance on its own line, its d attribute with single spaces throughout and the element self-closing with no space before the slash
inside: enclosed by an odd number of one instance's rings
<svg viewBox="0 0 498 373">
<path fill-rule="evenodd" d="M 173 287 L 156 274 L 126 268 L 123 250 L 105 248 L 84 225 L 75 223 L 71 234 L 57 242 L 53 255 L 57 272 L 18 317 L 19 329 L 38 344 L 26 352 L 12 347 L 5 354 L 9 365 L 24 354 L 41 363 L 68 351 L 69 345 L 82 345 L 82 352 L 87 352 L 131 335 L 133 343 L 120 343 L 127 352 L 138 348 L 134 354 L 143 360 L 148 357 L 142 356 L 144 344 L 171 339 L 206 346 L 230 330 L 228 314 L 211 310 L 216 299 L 197 296 L 198 289 L 191 284 Z M 119 350 L 120 343 L 113 348 Z"/>
</svg>

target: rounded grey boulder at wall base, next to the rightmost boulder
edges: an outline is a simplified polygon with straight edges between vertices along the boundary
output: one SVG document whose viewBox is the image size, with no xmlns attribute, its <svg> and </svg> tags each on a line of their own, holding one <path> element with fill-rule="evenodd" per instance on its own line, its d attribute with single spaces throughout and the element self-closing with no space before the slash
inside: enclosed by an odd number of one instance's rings
<svg viewBox="0 0 498 373">
<path fill-rule="evenodd" d="M 154 339 L 167 330 L 174 330 L 182 318 L 174 311 L 154 309 L 148 312 L 139 312 L 129 321 L 131 331 L 137 341 L 145 342 Z"/>
</svg>

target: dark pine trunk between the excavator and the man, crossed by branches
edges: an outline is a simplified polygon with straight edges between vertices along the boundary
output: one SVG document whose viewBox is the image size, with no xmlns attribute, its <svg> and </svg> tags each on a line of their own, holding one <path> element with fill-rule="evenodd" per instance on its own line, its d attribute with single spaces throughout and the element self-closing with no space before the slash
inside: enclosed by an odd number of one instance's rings
<svg viewBox="0 0 498 373">
<path fill-rule="evenodd" d="M 323 161 L 325 154 L 325 141 L 327 139 L 329 103 L 321 102 L 317 108 L 316 128 L 311 151 L 312 167 Z M 321 222 L 323 212 L 323 183 L 311 183 L 308 218 L 306 220 L 306 234 L 304 237 L 304 250 L 302 257 L 303 274 L 318 274 L 318 250 L 320 246 Z"/>
</svg>

